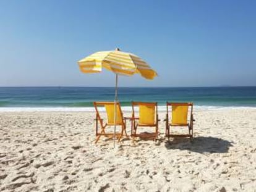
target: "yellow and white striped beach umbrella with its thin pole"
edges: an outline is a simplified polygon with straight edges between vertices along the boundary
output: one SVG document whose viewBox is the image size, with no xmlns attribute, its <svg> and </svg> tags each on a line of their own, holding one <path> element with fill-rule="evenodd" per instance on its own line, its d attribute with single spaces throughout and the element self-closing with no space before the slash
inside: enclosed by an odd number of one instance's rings
<svg viewBox="0 0 256 192">
<path fill-rule="evenodd" d="M 142 77 L 152 80 L 157 76 L 155 70 L 130 52 L 122 52 L 120 49 L 114 51 L 99 51 L 78 61 L 79 68 L 83 73 L 98 73 L 103 68 L 116 74 L 116 89 L 114 97 L 114 120 L 116 122 L 117 82 L 118 75 L 131 76 L 139 73 Z M 116 143 L 116 125 L 114 125 L 114 146 Z"/>
</svg>

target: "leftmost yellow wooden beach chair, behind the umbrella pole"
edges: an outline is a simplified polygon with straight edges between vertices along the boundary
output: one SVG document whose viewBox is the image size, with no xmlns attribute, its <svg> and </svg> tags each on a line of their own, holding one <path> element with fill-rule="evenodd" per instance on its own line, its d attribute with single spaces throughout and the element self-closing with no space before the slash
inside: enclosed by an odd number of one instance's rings
<svg viewBox="0 0 256 192">
<path fill-rule="evenodd" d="M 118 141 L 121 140 L 122 136 L 124 133 L 127 136 L 126 133 L 126 119 L 124 119 L 120 103 L 116 103 L 116 123 L 114 120 L 114 102 L 93 102 L 93 105 L 95 106 L 96 110 L 96 141 L 95 143 L 100 140 L 100 137 L 103 136 L 108 136 L 108 137 L 114 137 L 114 131 L 112 132 L 106 132 L 106 127 L 108 126 L 121 126 L 121 132 L 116 131 L 116 136 L 118 138 Z M 105 107 L 106 109 L 106 114 L 107 114 L 107 122 L 104 123 L 103 119 L 100 116 L 100 112 L 98 111 L 98 107 Z M 98 123 L 100 122 L 100 123 Z M 100 124 L 100 131 L 98 131 L 98 125 Z M 114 130 L 114 128 L 113 128 Z M 128 136 L 127 136 L 128 137 Z"/>
</svg>

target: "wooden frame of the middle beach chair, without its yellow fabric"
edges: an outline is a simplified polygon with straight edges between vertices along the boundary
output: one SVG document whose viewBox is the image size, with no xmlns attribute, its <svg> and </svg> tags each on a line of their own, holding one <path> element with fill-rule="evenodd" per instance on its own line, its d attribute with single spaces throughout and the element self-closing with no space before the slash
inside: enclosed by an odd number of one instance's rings
<svg viewBox="0 0 256 192">
<path fill-rule="evenodd" d="M 134 111 L 134 106 L 139 106 L 140 104 L 154 104 L 155 105 L 155 123 L 154 124 L 140 124 L 139 122 L 137 123 L 136 121 L 139 120 L 139 117 L 135 117 L 135 111 Z M 157 102 L 134 102 L 132 101 L 132 120 L 131 123 L 131 136 L 132 140 L 134 141 L 134 138 L 139 136 L 141 138 L 154 138 L 156 141 L 158 138 L 158 122 L 160 121 L 158 119 L 158 105 Z M 138 127 L 156 127 L 155 128 L 155 135 L 154 136 L 147 136 L 143 135 L 142 133 L 137 133 L 137 128 Z"/>
</svg>

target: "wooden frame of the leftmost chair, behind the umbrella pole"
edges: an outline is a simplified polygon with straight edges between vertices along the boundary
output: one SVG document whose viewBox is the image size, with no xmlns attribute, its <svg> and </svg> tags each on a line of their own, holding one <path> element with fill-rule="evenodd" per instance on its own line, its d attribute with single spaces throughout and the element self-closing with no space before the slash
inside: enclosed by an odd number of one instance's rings
<svg viewBox="0 0 256 192">
<path fill-rule="evenodd" d="M 107 126 L 114 126 L 115 123 L 104 123 L 103 119 L 100 117 L 100 112 L 98 111 L 98 106 L 103 106 L 105 107 L 105 104 L 113 104 L 114 102 L 93 102 L 93 106 L 95 107 L 95 111 L 96 111 L 96 141 L 95 143 L 98 142 L 98 140 L 100 140 L 100 137 L 103 136 L 107 136 L 109 138 L 114 137 L 114 133 L 106 133 L 105 132 L 105 128 Z M 127 133 L 126 133 L 126 118 L 124 118 L 122 110 L 121 110 L 121 106 L 119 102 L 116 102 L 116 108 L 119 107 L 119 110 L 121 112 L 121 118 L 122 118 L 122 122 L 121 123 L 117 123 L 116 125 L 121 126 L 122 130 L 121 133 L 116 133 L 116 136 L 118 138 L 118 142 L 121 140 L 122 136 L 124 135 L 124 133 L 126 134 L 126 136 L 128 137 Z M 100 132 L 98 132 L 98 122 L 100 122 Z"/>
</svg>

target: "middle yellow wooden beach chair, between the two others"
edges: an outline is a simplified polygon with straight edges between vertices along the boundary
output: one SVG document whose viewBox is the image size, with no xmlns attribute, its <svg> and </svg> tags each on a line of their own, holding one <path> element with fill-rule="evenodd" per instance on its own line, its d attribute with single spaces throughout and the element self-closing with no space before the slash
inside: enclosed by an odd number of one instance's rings
<svg viewBox="0 0 256 192">
<path fill-rule="evenodd" d="M 134 107 L 139 107 L 139 117 L 136 117 Z M 132 102 L 132 140 L 139 136 L 141 138 L 153 138 L 155 141 L 158 137 L 158 111 L 157 102 Z M 137 133 L 138 127 L 155 127 L 151 133 Z"/>
</svg>

